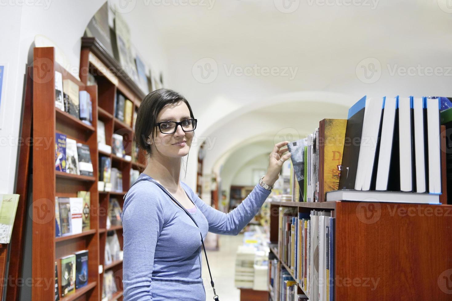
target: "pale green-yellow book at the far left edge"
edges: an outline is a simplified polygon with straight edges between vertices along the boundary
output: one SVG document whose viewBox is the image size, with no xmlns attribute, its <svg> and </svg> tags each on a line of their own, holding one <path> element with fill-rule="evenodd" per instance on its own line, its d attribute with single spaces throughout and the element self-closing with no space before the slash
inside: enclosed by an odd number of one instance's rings
<svg viewBox="0 0 452 301">
<path fill-rule="evenodd" d="M 19 194 L 2 194 L 0 209 L 0 244 L 9 244 L 16 217 Z"/>
</svg>

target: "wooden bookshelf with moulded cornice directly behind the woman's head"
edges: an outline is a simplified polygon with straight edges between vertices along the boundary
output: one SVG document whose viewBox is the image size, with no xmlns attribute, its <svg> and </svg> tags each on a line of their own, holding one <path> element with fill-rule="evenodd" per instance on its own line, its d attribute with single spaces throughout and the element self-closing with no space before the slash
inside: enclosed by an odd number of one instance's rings
<svg viewBox="0 0 452 301">
<path fill-rule="evenodd" d="M 137 111 L 141 100 L 146 96 L 138 85 L 127 75 L 121 65 L 108 54 L 104 46 L 92 37 L 82 37 L 80 52 L 80 80 L 87 83 L 88 74 L 94 75 L 98 86 L 98 118 L 105 124 L 106 144 L 112 146 L 112 134 L 120 134 L 123 137 L 123 145 L 126 155 L 132 157 L 132 161 L 127 161 L 123 157 L 118 157 L 113 153 L 98 152 L 100 157 L 109 157 L 111 167 L 118 168 L 122 172 L 121 191 L 99 191 L 99 207 L 102 212 L 108 212 L 108 203 L 111 198 L 118 200 L 122 207 L 124 201 L 122 196 L 126 194 L 130 187 L 131 169 L 142 172 L 146 167 L 146 156 L 143 152 L 135 153 L 132 141 L 134 139 L 134 129 L 131 124 L 126 124 L 115 116 L 115 102 L 118 93 L 124 95 L 126 99 L 132 101 L 132 112 Z M 109 232 L 114 231 L 119 240 L 121 250 L 123 250 L 122 226 L 107 226 L 107 216 L 99 217 L 99 264 L 104 264 L 104 251 Z M 113 261 L 112 264 L 104 265 L 103 272 L 99 274 L 99 287 L 104 282 L 104 272 L 113 270 L 118 292 L 109 300 L 122 301 L 122 260 Z"/>
</svg>

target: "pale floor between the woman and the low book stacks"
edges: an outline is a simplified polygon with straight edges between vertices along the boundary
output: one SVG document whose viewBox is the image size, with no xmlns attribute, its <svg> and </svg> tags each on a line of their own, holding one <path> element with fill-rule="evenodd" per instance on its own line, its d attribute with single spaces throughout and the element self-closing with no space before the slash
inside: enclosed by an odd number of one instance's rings
<svg viewBox="0 0 452 301">
<path fill-rule="evenodd" d="M 237 236 L 220 235 L 219 251 L 207 251 L 215 291 L 220 301 L 240 301 L 240 290 L 234 286 L 235 252 L 242 244 L 243 234 Z M 202 251 L 202 278 L 206 288 L 206 300 L 213 300 L 212 286 L 210 285 L 209 270 L 206 257 Z"/>
</svg>

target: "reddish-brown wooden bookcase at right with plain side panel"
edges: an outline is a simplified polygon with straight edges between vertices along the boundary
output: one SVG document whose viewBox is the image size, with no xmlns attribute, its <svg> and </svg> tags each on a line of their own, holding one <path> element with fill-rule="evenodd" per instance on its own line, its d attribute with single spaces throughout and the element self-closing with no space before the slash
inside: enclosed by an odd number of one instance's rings
<svg viewBox="0 0 452 301">
<path fill-rule="evenodd" d="M 279 260 L 278 207 L 334 211 L 335 300 L 450 300 L 446 284 L 438 281 L 452 266 L 451 205 L 296 203 L 271 202 L 270 251 Z M 377 289 L 363 285 L 370 278 L 378 280 Z M 272 300 L 270 287 L 268 294 Z"/>
</svg>

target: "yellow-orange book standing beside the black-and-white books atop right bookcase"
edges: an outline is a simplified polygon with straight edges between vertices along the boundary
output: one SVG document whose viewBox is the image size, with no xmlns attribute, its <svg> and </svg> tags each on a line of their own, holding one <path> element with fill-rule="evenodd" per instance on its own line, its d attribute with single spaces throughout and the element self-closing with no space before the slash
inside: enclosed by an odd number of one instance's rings
<svg viewBox="0 0 452 301">
<path fill-rule="evenodd" d="M 339 188 L 346 127 L 346 119 L 325 119 L 324 193 Z"/>
</svg>

